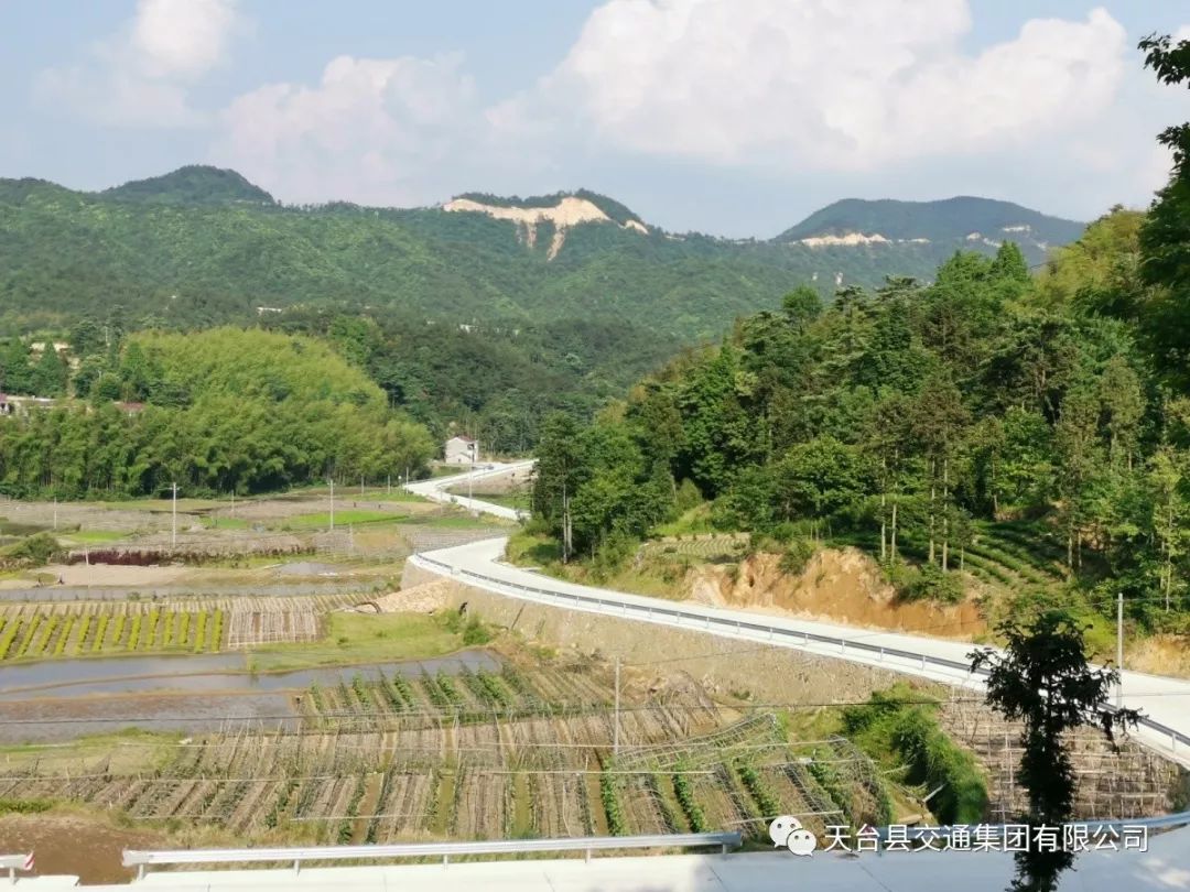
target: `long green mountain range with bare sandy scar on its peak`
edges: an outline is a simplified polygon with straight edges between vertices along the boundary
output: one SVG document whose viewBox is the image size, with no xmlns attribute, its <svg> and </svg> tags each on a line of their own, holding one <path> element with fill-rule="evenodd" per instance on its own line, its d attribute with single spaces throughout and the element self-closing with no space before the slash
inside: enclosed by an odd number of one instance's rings
<svg viewBox="0 0 1190 892">
<path fill-rule="evenodd" d="M 992 241 L 969 246 L 990 252 Z M 206 167 L 98 194 L 0 180 L 0 334 L 117 306 L 130 326 L 164 327 L 302 306 L 513 328 L 581 318 L 693 343 L 800 283 L 829 295 L 840 282 L 928 278 L 954 247 L 677 234 L 585 190 L 393 209 L 286 207 Z M 1026 256 L 1035 263 L 1040 249 Z"/>
</svg>

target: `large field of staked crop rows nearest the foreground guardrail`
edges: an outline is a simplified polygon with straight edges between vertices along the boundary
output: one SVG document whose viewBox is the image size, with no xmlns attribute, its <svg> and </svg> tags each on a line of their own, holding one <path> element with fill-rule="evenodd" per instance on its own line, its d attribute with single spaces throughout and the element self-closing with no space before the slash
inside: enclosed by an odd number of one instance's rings
<svg viewBox="0 0 1190 892">
<path fill-rule="evenodd" d="M 609 681 L 591 664 L 356 677 L 298 698 L 296 730 L 242 723 L 52 758 L 21 748 L 0 769 L 0 798 L 322 843 L 714 828 L 759 838 L 775 814 L 812 827 L 841 818 L 806 767 L 809 745 L 787 741 L 774 715 L 716 705 L 688 680 L 625 697 L 613 753 Z M 871 765 L 844 747 L 822 752 L 862 785 Z"/>
</svg>

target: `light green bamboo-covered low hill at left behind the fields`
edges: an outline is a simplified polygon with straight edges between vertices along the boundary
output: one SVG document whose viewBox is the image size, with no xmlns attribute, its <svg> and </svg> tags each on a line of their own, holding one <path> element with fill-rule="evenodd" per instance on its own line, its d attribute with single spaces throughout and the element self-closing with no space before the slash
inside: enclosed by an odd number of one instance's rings
<svg viewBox="0 0 1190 892">
<path fill-rule="evenodd" d="M 12 376 L 57 363 L 51 408 L 0 417 L 0 489 L 60 498 L 257 492 L 328 475 L 397 477 L 434 451 L 426 428 L 311 338 L 215 328 L 106 341 L 79 333 L 70 371 L 52 347 Z M 21 345 L 18 345 L 20 347 Z M 50 360 L 46 357 L 55 357 Z M 76 392 L 83 398 L 67 398 Z"/>
</svg>

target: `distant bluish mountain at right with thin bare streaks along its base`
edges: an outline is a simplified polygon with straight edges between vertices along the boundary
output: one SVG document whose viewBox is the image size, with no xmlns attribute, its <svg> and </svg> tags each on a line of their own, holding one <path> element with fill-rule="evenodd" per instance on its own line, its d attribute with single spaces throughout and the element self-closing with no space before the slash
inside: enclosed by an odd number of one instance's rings
<svg viewBox="0 0 1190 892">
<path fill-rule="evenodd" d="M 1015 241 L 1026 256 L 1065 245 L 1083 234 L 1084 224 L 1029 211 L 1010 201 L 962 195 L 942 201 L 864 201 L 845 199 L 815 211 L 776 240 L 814 244 L 866 237 L 869 244 L 890 243 L 979 245 Z M 877 238 L 878 237 L 878 238 Z M 856 239 L 857 241 L 859 239 Z"/>
</svg>

